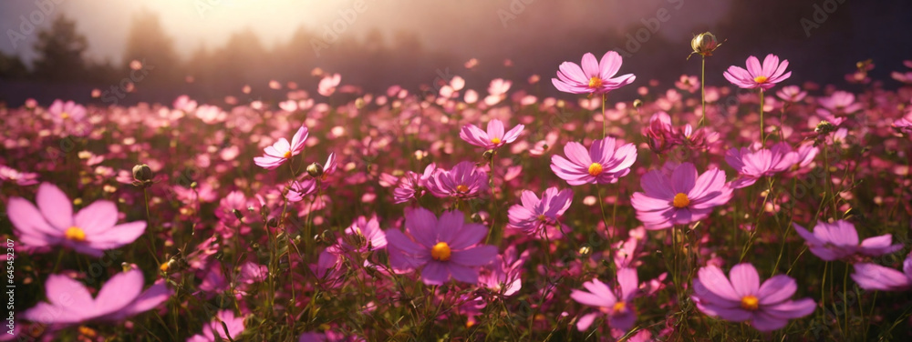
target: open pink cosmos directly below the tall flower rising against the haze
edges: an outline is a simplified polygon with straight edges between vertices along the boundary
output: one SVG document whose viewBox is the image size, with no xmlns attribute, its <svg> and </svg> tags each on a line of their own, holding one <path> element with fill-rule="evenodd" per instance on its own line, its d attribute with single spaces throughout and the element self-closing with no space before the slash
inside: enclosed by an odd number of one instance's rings
<svg viewBox="0 0 912 342">
<path fill-rule="evenodd" d="M 637 161 L 637 146 L 626 144 L 616 150 L 615 144 L 615 138 L 606 137 L 592 142 L 586 151 L 582 144 L 571 141 L 564 146 L 566 158 L 551 156 L 551 170 L 571 186 L 617 183 Z"/>
</svg>

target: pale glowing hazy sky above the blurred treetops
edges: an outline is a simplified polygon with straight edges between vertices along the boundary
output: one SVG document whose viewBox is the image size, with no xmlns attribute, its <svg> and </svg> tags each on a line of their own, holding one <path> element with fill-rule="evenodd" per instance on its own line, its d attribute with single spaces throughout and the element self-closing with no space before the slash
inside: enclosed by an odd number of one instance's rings
<svg viewBox="0 0 912 342">
<path fill-rule="evenodd" d="M 49 16 L 75 18 L 78 31 L 88 37 L 88 55 L 119 62 L 130 22 L 135 15 L 159 15 L 178 53 L 186 58 L 201 44 L 223 45 L 237 31 L 252 29 L 267 47 L 282 44 L 304 25 L 321 34 L 327 27 L 343 27 L 339 35 L 363 36 L 373 28 L 384 34 L 416 33 L 431 47 L 459 50 L 479 45 L 497 46 L 515 35 L 566 35 L 573 30 L 621 30 L 656 18 L 661 8 L 670 19 L 660 35 L 687 39 L 695 25 L 717 23 L 727 11 L 724 0 L 3 0 L 0 2 L 0 50 L 30 60 L 36 33 L 13 45 L 10 32 L 22 31 L 26 21 L 44 6 Z M 59 3 L 57 5 L 57 3 Z M 37 5 L 45 4 L 45 5 Z M 148 12 L 145 12 L 148 11 Z M 351 24 L 344 22 L 345 15 Z M 350 15 L 355 14 L 355 15 Z M 31 18 L 31 19 L 30 19 Z M 40 20 L 38 20 L 40 22 Z M 48 19 L 41 25 L 47 26 Z M 345 23 L 343 25 L 343 23 Z M 26 27 L 27 28 L 27 25 Z M 572 37 L 568 37 L 572 38 Z"/>
</svg>

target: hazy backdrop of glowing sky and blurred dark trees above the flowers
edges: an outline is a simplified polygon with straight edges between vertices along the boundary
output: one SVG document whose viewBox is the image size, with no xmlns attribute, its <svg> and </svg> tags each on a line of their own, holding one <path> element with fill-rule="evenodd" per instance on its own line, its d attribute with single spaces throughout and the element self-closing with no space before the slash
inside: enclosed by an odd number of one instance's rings
<svg viewBox="0 0 912 342">
<path fill-rule="evenodd" d="M 871 58 L 871 77 L 891 88 L 900 84 L 889 73 L 912 58 L 910 14 L 910 2 L 845 0 L 11 0 L 0 3 L 0 101 L 90 102 L 92 89 L 129 78 L 132 60 L 145 61 L 148 75 L 119 104 L 181 94 L 212 103 L 282 98 L 270 80 L 313 90 L 316 67 L 366 91 L 418 90 L 441 75 L 462 75 L 476 88 L 541 75 L 532 90 L 557 95 L 549 78 L 559 63 L 609 49 L 626 52 L 621 72 L 636 74 L 639 85 L 668 84 L 699 73 L 699 62 L 686 59 L 689 39 L 706 30 L 725 41 L 708 61 L 708 83 L 724 84 L 722 71 L 748 55 L 772 53 L 792 63 L 791 84 L 854 90 L 844 75 Z M 72 25 L 53 29 L 61 18 Z M 42 32 L 78 53 L 42 51 Z"/>
</svg>

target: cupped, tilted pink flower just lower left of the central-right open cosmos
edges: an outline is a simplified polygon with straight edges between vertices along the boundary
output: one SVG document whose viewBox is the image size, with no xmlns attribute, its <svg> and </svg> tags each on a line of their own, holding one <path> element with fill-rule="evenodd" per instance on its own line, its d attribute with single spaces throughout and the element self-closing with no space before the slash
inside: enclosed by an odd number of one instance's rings
<svg viewBox="0 0 912 342">
<path fill-rule="evenodd" d="M 557 217 L 564 215 L 573 203 L 573 190 L 558 190 L 556 186 L 544 190 L 539 199 L 535 193 L 523 190 L 519 205 L 513 205 L 507 212 L 510 227 L 523 230 L 526 234 L 540 236 L 545 226 L 556 225 Z"/>
</svg>

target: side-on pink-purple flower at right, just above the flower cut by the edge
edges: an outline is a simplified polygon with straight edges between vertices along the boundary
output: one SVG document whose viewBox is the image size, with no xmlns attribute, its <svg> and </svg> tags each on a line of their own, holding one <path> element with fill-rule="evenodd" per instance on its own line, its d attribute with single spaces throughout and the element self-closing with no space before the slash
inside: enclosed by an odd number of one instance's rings
<svg viewBox="0 0 912 342">
<path fill-rule="evenodd" d="M 858 244 L 858 232 L 855 231 L 855 225 L 844 220 L 838 220 L 832 224 L 817 222 L 813 234 L 796 223 L 793 223 L 793 226 L 798 235 L 802 236 L 807 243 L 811 253 L 826 261 L 845 259 L 859 254 L 866 257 L 879 257 L 903 248 L 902 244 L 892 245 L 893 236 L 889 234 L 865 238 L 861 244 Z"/>
</svg>

